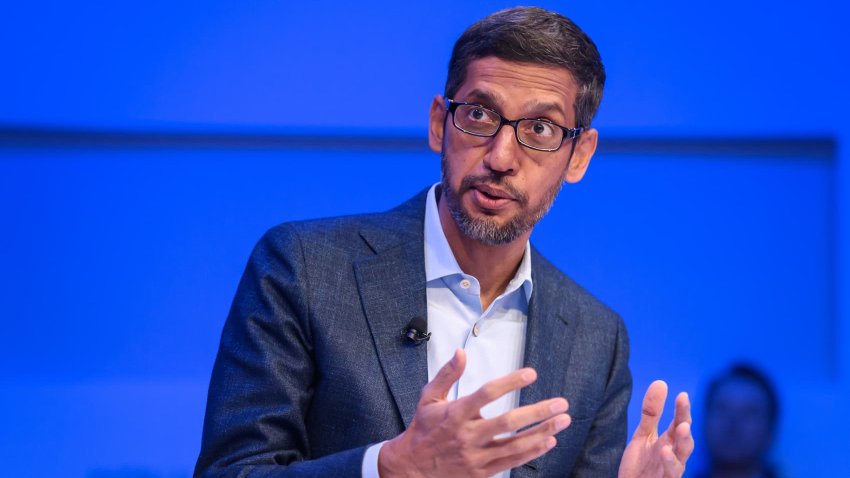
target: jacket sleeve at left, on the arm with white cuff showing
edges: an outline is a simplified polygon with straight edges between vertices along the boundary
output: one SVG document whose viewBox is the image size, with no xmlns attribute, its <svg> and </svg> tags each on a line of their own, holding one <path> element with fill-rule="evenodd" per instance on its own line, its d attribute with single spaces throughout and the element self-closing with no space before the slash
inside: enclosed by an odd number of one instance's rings
<svg viewBox="0 0 850 478">
<path fill-rule="evenodd" d="M 260 240 L 221 336 L 196 478 L 360 476 L 367 447 L 313 459 L 309 277 L 292 226 Z M 328 419 L 332 419 L 329 417 Z"/>
</svg>

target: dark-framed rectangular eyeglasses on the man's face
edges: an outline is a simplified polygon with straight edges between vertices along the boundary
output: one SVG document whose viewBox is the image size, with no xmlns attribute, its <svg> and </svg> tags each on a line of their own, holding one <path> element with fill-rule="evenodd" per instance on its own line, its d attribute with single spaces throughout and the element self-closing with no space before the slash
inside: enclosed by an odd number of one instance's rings
<svg viewBox="0 0 850 478">
<path fill-rule="evenodd" d="M 496 136 L 502 126 L 509 124 L 513 126 L 519 144 L 538 151 L 557 151 L 564 141 L 575 140 L 584 130 L 582 127 L 565 128 L 544 119 L 509 120 L 490 108 L 448 98 L 446 109 L 452 114 L 452 124 L 464 133 L 492 137 Z"/>
</svg>

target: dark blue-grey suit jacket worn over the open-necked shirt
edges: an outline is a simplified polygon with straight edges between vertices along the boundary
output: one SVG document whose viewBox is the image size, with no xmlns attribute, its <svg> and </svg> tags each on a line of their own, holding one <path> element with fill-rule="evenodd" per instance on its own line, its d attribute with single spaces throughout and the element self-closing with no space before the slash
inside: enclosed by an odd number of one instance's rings
<svg viewBox="0 0 850 478">
<path fill-rule="evenodd" d="M 410 424 L 428 380 L 425 192 L 386 213 L 282 224 L 257 244 L 210 381 L 204 477 L 360 476 Z M 572 425 L 514 477 L 616 476 L 631 395 L 622 320 L 532 248 L 521 404 L 563 396 Z M 433 331 L 439 334 L 439 330 Z"/>
</svg>

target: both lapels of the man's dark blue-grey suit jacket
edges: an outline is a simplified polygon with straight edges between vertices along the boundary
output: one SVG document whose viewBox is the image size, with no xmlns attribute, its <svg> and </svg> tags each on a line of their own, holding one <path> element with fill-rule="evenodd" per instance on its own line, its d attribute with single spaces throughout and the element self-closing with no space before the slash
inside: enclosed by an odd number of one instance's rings
<svg viewBox="0 0 850 478">
<path fill-rule="evenodd" d="M 361 236 L 375 255 L 354 264 L 378 360 L 405 428 L 428 383 L 427 347 L 404 338 L 412 318 L 427 319 L 422 223 L 426 192 L 396 209 L 399 214 L 388 217 L 386 227 L 364 229 Z M 535 248 L 531 251 L 534 291 L 528 307 L 524 362 L 537 370 L 538 379 L 520 392 L 520 406 L 563 396 L 575 336 L 575 322 L 570 317 L 579 312 L 575 297 L 565 296 L 558 287 L 560 273 Z M 515 469 L 514 476 L 533 473 L 538 461 Z"/>
</svg>

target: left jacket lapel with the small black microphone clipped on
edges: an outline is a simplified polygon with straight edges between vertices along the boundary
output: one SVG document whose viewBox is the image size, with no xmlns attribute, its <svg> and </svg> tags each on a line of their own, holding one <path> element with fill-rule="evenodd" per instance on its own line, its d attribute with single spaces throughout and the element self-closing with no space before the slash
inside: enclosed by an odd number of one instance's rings
<svg viewBox="0 0 850 478">
<path fill-rule="evenodd" d="M 401 242 L 398 234 L 389 230 L 361 233 L 376 255 L 354 264 L 378 360 L 405 428 L 428 382 L 427 347 L 414 345 L 404 337 L 412 318 L 427 318 L 421 219 L 418 228 L 418 234 Z"/>
</svg>

